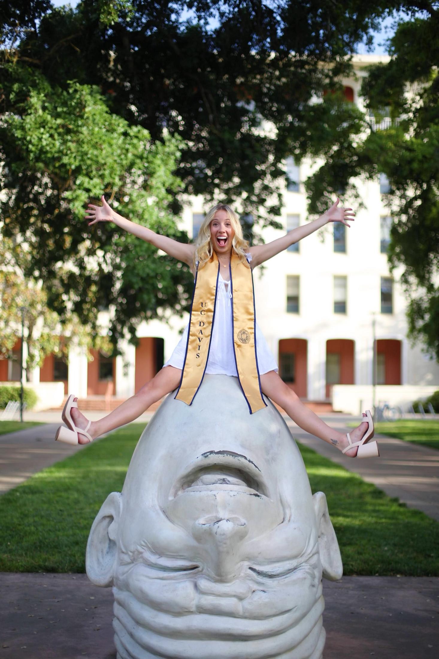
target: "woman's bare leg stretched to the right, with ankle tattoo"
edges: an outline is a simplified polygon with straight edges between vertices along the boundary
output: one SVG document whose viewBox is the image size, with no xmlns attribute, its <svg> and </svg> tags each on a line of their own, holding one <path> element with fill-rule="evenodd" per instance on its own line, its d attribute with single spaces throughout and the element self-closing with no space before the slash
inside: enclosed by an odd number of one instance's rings
<svg viewBox="0 0 439 659">
<path fill-rule="evenodd" d="M 339 432 L 328 426 L 314 412 L 303 405 L 293 389 L 290 389 L 275 371 L 270 371 L 260 376 L 260 384 L 262 393 L 284 409 L 287 415 L 303 430 L 315 435 L 328 444 L 333 444 L 340 451 L 343 451 L 347 447 L 349 444 L 347 436 L 343 432 Z M 367 428 L 368 424 L 361 422 L 357 428 L 352 430 L 349 433 L 352 442 L 359 442 L 363 438 Z M 345 455 L 355 457 L 357 455 L 357 447 L 346 451 Z"/>
</svg>

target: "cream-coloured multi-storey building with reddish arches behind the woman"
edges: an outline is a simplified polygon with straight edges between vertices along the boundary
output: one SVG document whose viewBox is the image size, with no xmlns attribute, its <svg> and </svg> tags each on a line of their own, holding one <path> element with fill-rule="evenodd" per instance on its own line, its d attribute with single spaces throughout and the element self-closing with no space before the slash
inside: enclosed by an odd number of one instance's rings
<svg viewBox="0 0 439 659">
<path fill-rule="evenodd" d="M 355 79 L 343 80 L 348 100 L 358 103 L 365 66 L 386 57 L 361 55 L 355 59 Z M 380 128 L 385 129 L 384 125 Z M 303 181 L 310 163 L 286 163 L 284 232 L 307 222 Z M 310 401 L 329 401 L 335 409 L 359 412 L 372 404 L 374 337 L 376 339 L 376 402 L 407 403 L 439 387 L 439 364 L 411 347 L 405 318 L 406 300 L 400 272 L 389 272 L 386 250 L 392 218 L 382 193 L 386 180 L 358 182 L 364 210 L 350 228 L 327 225 L 254 272 L 256 317 L 279 363 L 279 374 L 297 394 Z M 203 217 L 201 198 L 190 200 L 181 228 L 196 232 Z M 279 218 L 278 218 L 279 219 Z M 268 228 L 266 242 L 281 231 Z M 138 329 L 140 344 L 128 343 L 124 355 L 108 360 L 96 355 L 71 355 L 69 367 L 47 358 L 34 382 L 60 379 L 65 391 L 78 396 L 103 395 L 113 382 L 117 399 L 132 395 L 160 369 L 179 341 L 188 321 L 153 321 Z M 63 371 L 60 372 L 60 368 Z M 0 380 L 3 379 L 0 377 Z M 111 388 L 111 387 L 110 387 Z M 363 405 L 364 404 L 364 405 Z"/>
</svg>

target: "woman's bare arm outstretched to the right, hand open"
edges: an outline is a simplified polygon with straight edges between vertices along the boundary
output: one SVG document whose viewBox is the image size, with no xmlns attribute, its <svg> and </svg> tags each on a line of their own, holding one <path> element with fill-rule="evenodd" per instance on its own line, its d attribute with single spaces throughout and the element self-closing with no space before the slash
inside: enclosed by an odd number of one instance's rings
<svg viewBox="0 0 439 659">
<path fill-rule="evenodd" d="M 337 201 L 332 204 L 331 208 L 328 208 L 326 213 L 320 215 L 320 217 L 314 219 L 312 222 L 307 222 L 307 224 L 303 224 L 301 227 L 292 229 L 287 235 L 276 239 L 276 241 L 251 247 L 252 268 L 259 266 L 261 263 L 264 263 L 264 261 L 272 258 L 272 256 L 276 256 L 279 252 L 283 252 L 283 250 L 287 249 L 290 245 L 298 243 L 301 239 L 314 233 L 314 231 L 317 231 L 317 229 L 324 227 L 328 222 L 341 222 L 347 227 L 350 227 L 351 225 L 347 223 L 347 220 L 354 221 L 355 213 L 352 208 L 343 208 L 343 206 L 339 206 L 339 201 L 340 200 L 337 198 Z"/>
</svg>

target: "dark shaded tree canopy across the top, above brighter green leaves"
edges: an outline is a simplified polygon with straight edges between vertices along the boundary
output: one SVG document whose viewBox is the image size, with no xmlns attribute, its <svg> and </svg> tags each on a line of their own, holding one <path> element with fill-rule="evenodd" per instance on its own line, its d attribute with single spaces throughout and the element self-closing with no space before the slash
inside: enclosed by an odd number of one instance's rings
<svg viewBox="0 0 439 659">
<path fill-rule="evenodd" d="M 400 5 L 83 0 L 45 13 L 26 33 L 6 76 L 5 108 L 25 63 L 52 86 L 98 84 L 111 111 L 147 129 L 153 142 L 163 126 L 183 139 L 187 192 L 211 200 L 220 190 L 263 225 L 279 215 L 285 157 L 334 146 L 332 130 L 324 144 L 313 139 L 320 118 L 308 119 L 308 111 L 316 97 L 340 87 L 355 46 Z M 343 121 L 355 123 L 355 109 L 345 105 Z M 266 121 L 274 132 L 262 133 Z M 341 161 L 343 144 L 338 151 Z"/>
</svg>

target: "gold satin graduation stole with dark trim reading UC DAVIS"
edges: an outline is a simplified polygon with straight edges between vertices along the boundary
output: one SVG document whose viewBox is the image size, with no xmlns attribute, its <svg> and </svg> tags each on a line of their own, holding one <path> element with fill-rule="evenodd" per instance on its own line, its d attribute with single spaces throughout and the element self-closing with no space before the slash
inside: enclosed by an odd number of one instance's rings
<svg viewBox="0 0 439 659">
<path fill-rule="evenodd" d="M 249 405 L 250 414 L 266 407 L 260 388 L 256 355 L 256 324 L 252 270 L 236 254 L 231 255 L 230 283 L 232 293 L 233 351 L 239 384 Z M 190 307 L 185 363 L 180 386 L 175 395 L 192 405 L 201 386 L 209 358 L 210 337 L 214 328 L 215 302 L 218 291 L 220 262 L 214 252 L 198 272 L 196 266 L 194 295 Z"/>
</svg>

